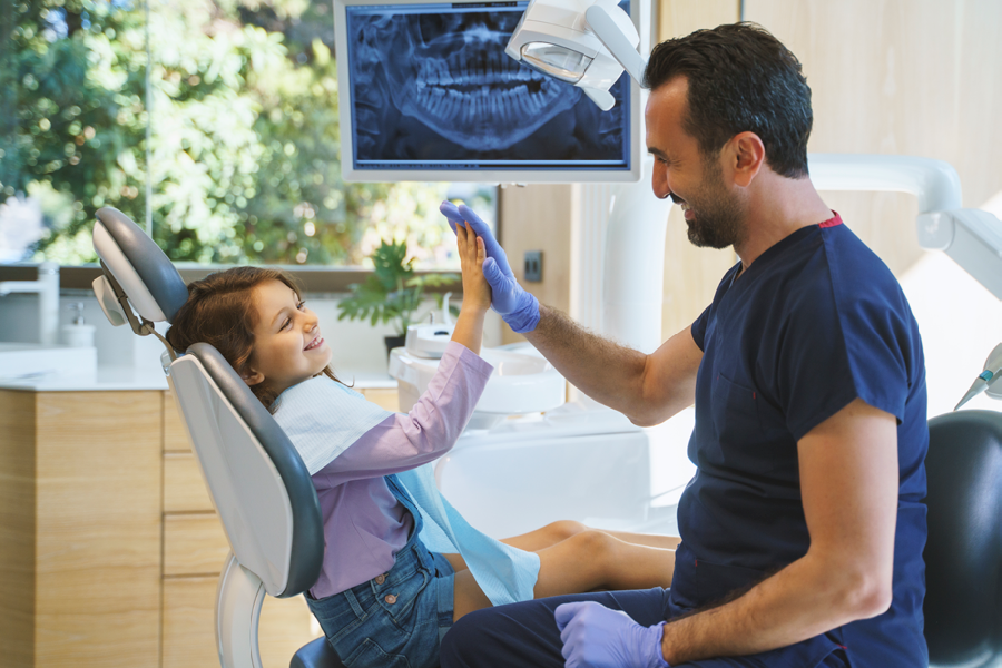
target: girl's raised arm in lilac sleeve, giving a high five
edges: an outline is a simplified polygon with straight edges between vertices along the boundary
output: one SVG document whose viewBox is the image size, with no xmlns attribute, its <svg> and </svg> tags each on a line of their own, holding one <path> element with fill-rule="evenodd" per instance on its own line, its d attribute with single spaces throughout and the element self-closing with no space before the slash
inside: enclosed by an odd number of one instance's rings
<svg viewBox="0 0 1002 668">
<path fill-rule="evenodd" d="M 493 367 L 477 353 L 491 288 L 483 277 L 483 240 L 459 228 L 456 245 L 463 269 L 463 304 L 452 342 L 428 390 L 407 414 L 397 413 L 367 431 L 314 480 L 331 487 L 348 480 L 407 471 L 434 461 L 462 434 Z"/>
</svg>

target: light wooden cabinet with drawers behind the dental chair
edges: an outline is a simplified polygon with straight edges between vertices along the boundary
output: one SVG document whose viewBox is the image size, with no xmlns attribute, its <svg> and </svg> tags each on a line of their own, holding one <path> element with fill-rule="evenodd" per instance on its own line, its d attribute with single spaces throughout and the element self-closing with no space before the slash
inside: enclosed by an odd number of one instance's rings
<svg viewBox="0 0 1002 668">
<path fill-rule="evenodd" d="M 216 668 L 227 552 L 169 392 L 0 390 L 4 668 Z M 265 668 L 320 635 L 303 597 L 265 599 Z"/>
</svg>

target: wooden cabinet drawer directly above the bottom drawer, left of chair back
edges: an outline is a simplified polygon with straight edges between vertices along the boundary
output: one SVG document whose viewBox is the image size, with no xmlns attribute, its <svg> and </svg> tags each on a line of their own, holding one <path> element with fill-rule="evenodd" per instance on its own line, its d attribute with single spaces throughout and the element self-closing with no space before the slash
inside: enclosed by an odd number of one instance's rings
<svg viewBox="0 0 1002 668">
<path fill-rule="evenodd" d="M 164 574 L 218 574 L 229 544 L 216 513 L 164 515 Z"/>
</svg>

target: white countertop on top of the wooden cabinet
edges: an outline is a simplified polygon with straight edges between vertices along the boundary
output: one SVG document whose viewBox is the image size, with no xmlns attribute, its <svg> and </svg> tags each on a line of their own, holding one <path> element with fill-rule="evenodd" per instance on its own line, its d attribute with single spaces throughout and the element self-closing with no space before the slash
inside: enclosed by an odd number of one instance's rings
<svg viewBox="0 0 1002 668">
<path fill-rule="evenodd" d="M 395 389 L 396 380 L 383 371 L 340 370 L 338 376 L 356 390 Z M 167 376 L 159 369 L 102 366 L 97 373 L 47 373 L 18 379 L 0 377 L 0 390 L 30 392 L 110 392 L 167 390 Z"/>
</svg>

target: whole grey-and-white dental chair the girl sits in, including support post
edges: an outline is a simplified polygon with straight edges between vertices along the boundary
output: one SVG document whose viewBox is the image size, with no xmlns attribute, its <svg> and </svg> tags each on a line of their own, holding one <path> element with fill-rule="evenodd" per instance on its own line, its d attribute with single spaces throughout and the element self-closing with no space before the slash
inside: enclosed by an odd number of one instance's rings
<svg viewBox="0 0 1002 668">
<path fill-rule="evenodd" d="M 188 291 L 167 256 L 114 208 L 97 212 L 94 282 L 112 325 L 167 346 L 164 371 L 219 514 L 230 552 L 216 595 L 216 646 L 224 668 L 261 668 L 257 627 L 265 595 L 287 598 L 316 581 L 323 520 L 303 460 L 268 411 L 216 348 L 196 343 L 177 355 L 154 328 L 170 323 Z M 292 668 L 341 668 L 323 637 L 299 649 Z"/>
</svg>

